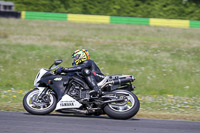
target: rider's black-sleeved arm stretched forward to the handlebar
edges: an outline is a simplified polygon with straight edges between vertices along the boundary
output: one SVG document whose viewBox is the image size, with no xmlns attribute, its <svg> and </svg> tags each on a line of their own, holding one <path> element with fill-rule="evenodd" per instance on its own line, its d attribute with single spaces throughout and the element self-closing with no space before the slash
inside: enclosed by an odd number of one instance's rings
<svg viewBox="0 0 200 133">
<path fill-rule="evenodd" d="M 91 66 L 91 61 L 90 60 L 86 60 L 80 65 L 69 67 L 69 68 L 63 68 L 62 71 L 63 72 L 81 71 L 82 69 L 89 68 L 90 66 Z"/>
</svg>

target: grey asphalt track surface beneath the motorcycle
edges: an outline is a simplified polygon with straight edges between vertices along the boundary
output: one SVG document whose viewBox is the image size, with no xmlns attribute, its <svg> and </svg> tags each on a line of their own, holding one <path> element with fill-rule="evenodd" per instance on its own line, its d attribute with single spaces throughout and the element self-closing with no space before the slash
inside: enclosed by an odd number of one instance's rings
<svg viewBox="0 0 200 133">
<path fill-rule="evenodd" d="M 0 111 L 0 133 L 200 133 L 200 121 L 114 120 L 105 116 Z"/>
</svg>

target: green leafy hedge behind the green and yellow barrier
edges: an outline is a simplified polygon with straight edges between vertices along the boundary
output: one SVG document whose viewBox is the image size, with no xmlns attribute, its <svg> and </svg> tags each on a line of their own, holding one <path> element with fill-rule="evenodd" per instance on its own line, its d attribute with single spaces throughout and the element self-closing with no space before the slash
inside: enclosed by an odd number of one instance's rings
<svg viewBox="0 0 200 133">
<path fill-rule="evenodd" d="M 17 11 L 200 20 L 200 0 L 5 0 Z"/>
</svg>

